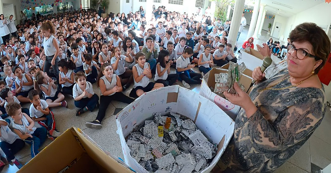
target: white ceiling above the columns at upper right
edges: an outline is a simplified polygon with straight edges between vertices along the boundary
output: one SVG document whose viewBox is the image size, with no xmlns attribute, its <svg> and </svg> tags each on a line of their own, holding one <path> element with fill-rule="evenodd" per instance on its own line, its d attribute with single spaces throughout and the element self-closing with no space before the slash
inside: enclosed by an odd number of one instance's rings
<svg viewBox="0 0 331 173">
<path fill-rule="evenodd" d="M 261 0 L 261 4 L 266 5 L 265 10 L 267 10 L 267 13 L 269 15 L 274 14 L 283 17 L 290 17 L 294 14 L 298 14 L 320 3 L 325 3 L 325 1 L 324 0 Z"/>
</svg>

